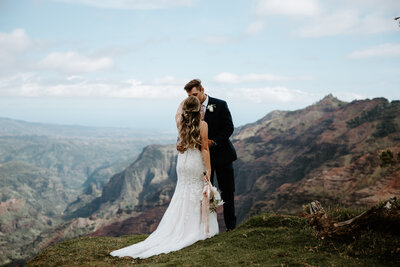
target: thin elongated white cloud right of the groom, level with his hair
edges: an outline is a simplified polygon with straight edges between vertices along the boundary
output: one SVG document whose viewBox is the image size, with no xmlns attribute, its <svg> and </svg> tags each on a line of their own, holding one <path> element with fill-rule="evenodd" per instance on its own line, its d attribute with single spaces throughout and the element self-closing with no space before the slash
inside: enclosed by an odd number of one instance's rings
<svg viewBox="0 0 400 267">
<path fill-rule="evenodd" d="M 243 83 L 243 82 L 276 82 L 290 80 L 311 80 L 312 77 L 288 77 L 275 74 L 256 74 L 249 73 L 237 75 L 230 72 L 222 72 L 214 77 L 214 81 L 219 83 Z"/>
</svg>

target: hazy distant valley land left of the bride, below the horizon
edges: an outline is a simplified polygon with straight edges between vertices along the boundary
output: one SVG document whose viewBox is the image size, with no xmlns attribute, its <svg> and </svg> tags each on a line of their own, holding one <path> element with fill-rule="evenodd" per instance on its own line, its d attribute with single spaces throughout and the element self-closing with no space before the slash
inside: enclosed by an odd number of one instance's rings
<svg viewBox="0 0 400 267">
<path fill-rule="evenodd" d="M 34 244 L 63 227 L 68 205 L 91 202 L 144 146 L 174 138 L 0 119 L 0 265 L 40 250 Z"/>
</svg>

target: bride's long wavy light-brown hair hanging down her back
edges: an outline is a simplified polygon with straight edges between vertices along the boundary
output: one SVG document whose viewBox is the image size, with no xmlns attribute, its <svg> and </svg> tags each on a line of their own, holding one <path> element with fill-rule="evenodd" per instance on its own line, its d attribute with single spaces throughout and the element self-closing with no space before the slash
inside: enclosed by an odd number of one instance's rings
<svg viewBox="0 0 400 267">
<path fill-rule="evenodd" d="M 180 118 L 179 137 L 181 145 L 185 148 L 201 147 L 200 139 L 200 101 L 197 97 L 189 96 L 183 102 Z"/>
</svg>

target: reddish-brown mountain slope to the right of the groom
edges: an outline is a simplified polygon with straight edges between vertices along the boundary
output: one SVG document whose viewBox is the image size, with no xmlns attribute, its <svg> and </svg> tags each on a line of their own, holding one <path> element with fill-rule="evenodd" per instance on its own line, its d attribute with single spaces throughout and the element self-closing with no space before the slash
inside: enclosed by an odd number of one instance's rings
<svg viewBox="0 0 400 267">
<path fill-rule="evenodd" d="M 305 109 L 243 127 L 232 138 L 239 158 L 240 218 L 268 210 L 293 214 L 315 198 L 373 205 L 398 195 L 400 166 L 381 167 L 379 154 L 398 150 L 399 126 L 399 101 L 343 103 L 327 96 Z"/>
</svg>

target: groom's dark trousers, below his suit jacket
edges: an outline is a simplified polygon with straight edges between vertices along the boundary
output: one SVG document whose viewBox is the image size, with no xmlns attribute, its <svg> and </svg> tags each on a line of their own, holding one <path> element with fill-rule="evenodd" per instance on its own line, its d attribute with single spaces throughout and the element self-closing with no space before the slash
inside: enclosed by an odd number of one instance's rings
<svg viewBox="0 0 400 267">
<path fill-rule="evenodd" d="M 232 162 L 225 165 L 215 165 L 211 168 L 211 183 L 214 184 L 214 172 L 217 175 L 218 188 L 224 201 L 224 221 L 227 229 L 236 228 L 235 216 L 235 179 Z"/>
</svg>

